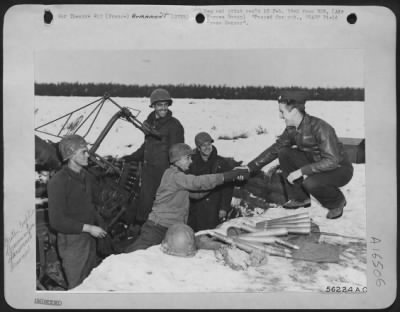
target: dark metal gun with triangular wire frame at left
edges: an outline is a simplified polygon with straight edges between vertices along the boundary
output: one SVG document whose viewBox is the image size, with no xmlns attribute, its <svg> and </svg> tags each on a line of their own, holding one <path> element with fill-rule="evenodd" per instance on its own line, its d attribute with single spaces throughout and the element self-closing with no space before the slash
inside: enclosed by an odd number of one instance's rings
<svg viewBox="0 0 400 312">
<path fill-rule="evenodd" d="M 110 132 L 114 124 L 120 120 L 126 120 L 142 131 L 145 135 L 160 137 L 160 134 L 146 123 L 140 122 L 136 116 L 132 114 L 129 108 L 121 107 L 114 101 L 109 94 L 89 103 L 75 111 L 65 114 L 55 120 L 52 120 L 35 129 L 38 133 L 44 133 L 61 139 L 64 135 L 75 134 L 79 129 L 89 123 L 85 137 L 91 131 L 93 124 L 97 120 L 104 104 L 111 102 L 118 108 L 118 111 L 109 119 L 101 133 L 98 135 L 94 143 L 89 149 L 89 164 L 87 170 L 94 175 L 98 182 L 98 198 L 96 201 L 97 209 L 104 220 L 105 230 L 109 233 L 107 236 L 107 244 L 105 248 L 98 250 L 100 257 L 108 256 L 112 253 L 117 253 L 116 246 L 123 243 L 128 238 L 129 224 L 124 218 L 127 209 L 133 209 L 133 205 L 140 190 L 140 175 L 141 163 L 125 162 L 114 157 L 103 157 L 97 154 L 97 150 L 104 138 Z M 77 119 L 78 122 L 71 123 L 72 116 L 77 112 L 80 113 L 83 109 L 95 106 L 86 116 L 82 115 Z M 94 116 L 90 121 L 90 117 Z M 51 133 L 46 130 L 46 127 L 54 122 L 62 123 L 61 129 L 56 133 Z M 73 124 L 73 126 L 71 126 Z M 60 169 L 62 161 L 58 153 L 58 143 L 45 141 L 35 135 L 35 159 L 37 175 L 45 175 L 48 177 L 50 172 Z M 47 207 L 47 181 L 37 178 L 36 180 L 36 238 L 37 238 L 37 288 L 38 289 L 62 289 L 63 281 L 60 268 L 55 269 L 55 263 L 58 260 L 56 252 L 56 235 L 51 229 L 48 221 Z M 49 267 L 53 271 L 58 271 L 57 276 L 49 278 L 47 274 Z M 59 266 L 60 267 L 60 266 Z M 58 282 L 57 282 L 58 280 Z"/>
</svg>

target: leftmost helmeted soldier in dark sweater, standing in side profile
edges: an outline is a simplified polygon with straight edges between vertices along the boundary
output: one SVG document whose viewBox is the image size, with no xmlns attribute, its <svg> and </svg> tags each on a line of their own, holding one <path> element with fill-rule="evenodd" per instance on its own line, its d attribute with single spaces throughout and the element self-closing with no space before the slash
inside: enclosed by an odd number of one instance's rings
<svg viewBox="0 0 400 312">
<path fill-rule="evenodd" d="M 84 169 L 87 143 L 79 135 L 64 137 L 59 150 L 64 166 L 48 183 L 49 221 L 57 232 L 57 245 L 68 289 L 79 285 L 97 265 L 96 239 L 107 232 L 94 204 L 96 184 Z"/>
</svg>

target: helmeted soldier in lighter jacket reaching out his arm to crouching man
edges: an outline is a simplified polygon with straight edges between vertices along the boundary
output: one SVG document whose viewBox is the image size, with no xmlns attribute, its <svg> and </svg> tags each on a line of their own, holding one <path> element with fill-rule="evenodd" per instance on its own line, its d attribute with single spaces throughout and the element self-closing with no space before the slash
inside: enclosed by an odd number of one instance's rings
<svg viewBox="0 0 400 312">
<path fill-rule="evenodd" d="M 156 199 L 147 221 L 143 224 L 140 236 L 126 252 L 146 249 L 160 244 L 169 227 L 178 223 L 187 223 L 189 215 L 189 196 L 201 198 L 217 185 L 244 179 L 246 169 L 235 169 L 224 173 L 194 176 L 187 174 L 192 163 L 192 148 L 177 143 L 169 149 L 170 167 L 165 170 Z"/>
</svg>

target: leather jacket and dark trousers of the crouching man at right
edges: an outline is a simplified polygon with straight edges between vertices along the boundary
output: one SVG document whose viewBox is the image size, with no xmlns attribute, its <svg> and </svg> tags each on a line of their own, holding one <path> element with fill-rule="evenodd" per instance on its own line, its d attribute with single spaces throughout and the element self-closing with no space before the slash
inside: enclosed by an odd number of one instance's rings
<svg viewBox="0 0 400 312">
<path fill-rule="evenodd" d="M 335 130 L 324 120 L 305 114 L 297 129 L 286 127 L 277 141 L 248 166 L 256 171 L 276 158 L 285 178 L 297 169 L 307 176 L 293 185 L 285 179 L 289 198 L 302 201 L 311 194 L 328 209 L 345 202 L 339 187 L 351 180 L 353 166 Z"/>
</svg>

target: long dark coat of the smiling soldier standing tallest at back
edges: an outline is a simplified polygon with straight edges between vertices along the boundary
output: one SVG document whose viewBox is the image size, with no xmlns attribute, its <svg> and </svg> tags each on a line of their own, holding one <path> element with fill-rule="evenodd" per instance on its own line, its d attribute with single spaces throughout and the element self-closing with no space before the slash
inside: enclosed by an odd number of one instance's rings
<svg viewBox="0 0 400 312">
<path fill-rule="evenodd" d="M 156 118 L 152 112 L 145 121 L 150 127 L 156 129 L 161 138 L 146 135 L 142 146 L 133 154 L 125 156 L 126 160 L 142 161 L 142 184 L 139 200 L 136 203 L 136 220 L 144 222 L 153 206 L 158 186 L 164 171 L 169 167 L 168 150 L 175 143 L 184 142 L 184 130 L 178 119 L 172 117 L 168 111 L 167 116 Z"/>
</svg>

